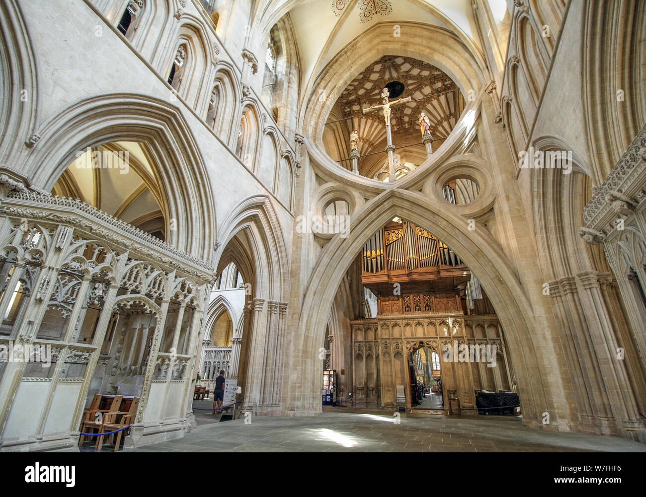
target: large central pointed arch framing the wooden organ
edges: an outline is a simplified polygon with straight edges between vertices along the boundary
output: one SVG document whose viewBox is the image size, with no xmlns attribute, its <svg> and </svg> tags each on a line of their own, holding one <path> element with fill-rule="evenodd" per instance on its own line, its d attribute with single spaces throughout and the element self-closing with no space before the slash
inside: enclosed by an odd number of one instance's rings
<svg viewBox="0 0 646 497">
<path fill-rule="evenodd" d="M 488 289 L 514 355 L 523 401 L 523 422 L 539 427 L 543 411 L 558 411 L 557 416 L 552 416 L 551 428 L 555 429 L 556 425 L 567 429 L 567 411 L 557 407 L 557 403 L 563 401 L 558 386 L 557 361 L 554 354 L 546 352 L 551 349 L 547 323 L 542 322 L 541 316 L 534 316 L 526 295 L 528 289 L 521 287 L 505 254 L 486 230 L 470 232 L 463 219 L 434 208 L 419 194 L 402 190 L 389 190 L 366 203 L 359 214 L 353 216 L 349 236 L 331 239 L 322 250 L 304 296 L 295 334 L 299 340 L 291 343 L 286 358 L 301 374 L 296 381 L 286 385 L 289 400 L 284 411 L 294 415 L 320 411 L 320 361 L 310 358 L 324 340 L 329 309 L 347 268 L 364 241 L 393 216 L 408 219 L 445 241 Z M 539 291 L 539 288 L 532 291 Z M 547 378 L 552 372 L 555 373 L 552 378 Z"/>
</svg>

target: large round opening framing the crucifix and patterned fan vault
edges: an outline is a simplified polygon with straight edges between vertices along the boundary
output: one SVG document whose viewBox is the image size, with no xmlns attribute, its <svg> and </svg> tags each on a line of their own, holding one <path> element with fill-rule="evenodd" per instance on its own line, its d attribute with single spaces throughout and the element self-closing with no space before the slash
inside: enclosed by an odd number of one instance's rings
<svg viewBox="0 0 646 497">
<path fill-rule="evenodd" d="M 323 133 L 324 148 L 341 167 L 353 169 L 358 154 L 359 174 L 388 181 L 386 121 L 379 106 L 388 89 L 390 128 L 397 179 L 415 170 L 428 157 L 425 134 L 437 149 L 455 127 L 464 99 L 453 80 L 439 68 L 403 56 L 383 56 L 353 79 L 331 108 Z M 396 103 L 410 97 L 410 101 Z"/>
</svg>

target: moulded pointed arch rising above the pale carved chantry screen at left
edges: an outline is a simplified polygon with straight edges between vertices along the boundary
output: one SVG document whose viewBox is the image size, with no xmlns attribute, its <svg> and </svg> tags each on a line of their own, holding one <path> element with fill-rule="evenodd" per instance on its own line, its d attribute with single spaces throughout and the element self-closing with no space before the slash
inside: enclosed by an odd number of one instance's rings
<svg viewBox="0 0 646 497">
<path fill-rule="evenodd" d="M 156 180 L 164 193 L 162 209 L 176 220 L 168 243 L 211 261 L 216 226 L 213 190 L 202 152 L 178 108 L 154 97 L 107 94 L 83 99 L 54 116 L 38 130 L 37 147 L 20 167 L 37 188 L 51 191 L 76 153 L 110 141 L 146 143 L 154 159 Z M 201 209 L 189 208 L 199 201 Z"/>
</svg>

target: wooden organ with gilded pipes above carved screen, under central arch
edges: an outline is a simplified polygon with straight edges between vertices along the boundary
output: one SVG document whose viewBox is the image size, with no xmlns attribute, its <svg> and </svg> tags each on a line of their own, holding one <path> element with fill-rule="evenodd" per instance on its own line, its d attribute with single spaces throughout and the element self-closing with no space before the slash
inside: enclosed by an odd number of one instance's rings
<svg viewBox="0 0 646 497">
<path fill-rule="evenodd" d="M 376 313 L 351 321 L 357 405 L 475 415 L 479 392 L 515 393 L 503 327 L 481 283 L 446 243 L 394 218 L 360 259 Z M 456 360 L 459 347 L 494 357 Z"/>
</svg>

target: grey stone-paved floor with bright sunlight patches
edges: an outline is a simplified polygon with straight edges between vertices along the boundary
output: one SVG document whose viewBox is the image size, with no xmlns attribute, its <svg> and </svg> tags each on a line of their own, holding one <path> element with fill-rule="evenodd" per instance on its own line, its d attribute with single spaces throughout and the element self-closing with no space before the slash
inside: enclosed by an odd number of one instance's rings
<svg viewBox="0 0 646 497">
<path fill-rule="evenodd" d="M 646 445 L 620 437 L 528 429 L 512 416 L 402 416 L 398 425 L 387 414 L 324 412 L 260 416 L 245 424 L 194 412 L 198 427 L 184 438 L 124 452 L 646 452 Z"/>
</svg>

